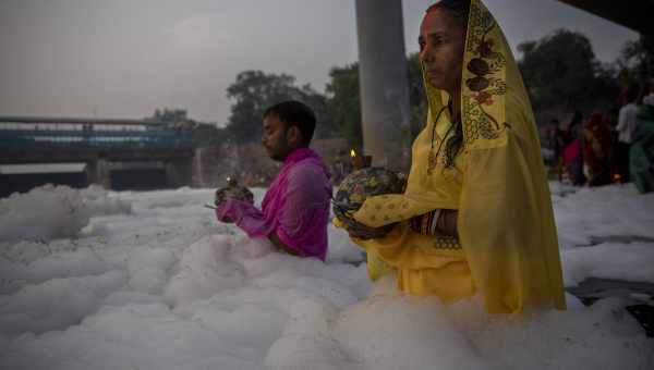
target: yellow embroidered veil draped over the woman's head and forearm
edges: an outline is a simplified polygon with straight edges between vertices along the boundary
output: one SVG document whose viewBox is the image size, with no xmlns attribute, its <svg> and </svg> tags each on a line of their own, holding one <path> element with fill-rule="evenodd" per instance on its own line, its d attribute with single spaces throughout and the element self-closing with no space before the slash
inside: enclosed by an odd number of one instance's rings
<svg viewBox="0 0 654 370">
<path fill-rule="evenodd" d="M 371 197 L 354 218 L 382 226 L 434 209 L 458 209 L 459 244 L 488 312 L 565 309 L 554 213 L 531 103 L 505 36 L 480 0 L 471 1 L 463 63 L 467 165 L 458 198 L 452 192 L 426 188 L 424 166 L 412 165 L 405 194 Z M 426 81 L 425 87 L 425 130 L 433 130 L 435 112 L 448 95 Z M 401 211 L 379 217 L 378 210 L 389 203 Z M 378 256 L 367 249 L 374 263 Z"/>
</svg>

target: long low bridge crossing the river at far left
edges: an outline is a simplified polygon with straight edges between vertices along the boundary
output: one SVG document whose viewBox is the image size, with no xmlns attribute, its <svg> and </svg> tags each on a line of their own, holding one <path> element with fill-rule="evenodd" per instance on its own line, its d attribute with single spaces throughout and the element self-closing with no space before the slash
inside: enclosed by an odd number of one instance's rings
<svg viewBox="0 0 654 370">
<path fill-rule="evenodd" d="M 149 189 L 191 184 L 193 141 L 140 120 L 0 116 L 0 197 L 45 183 Z"/>
</svg>

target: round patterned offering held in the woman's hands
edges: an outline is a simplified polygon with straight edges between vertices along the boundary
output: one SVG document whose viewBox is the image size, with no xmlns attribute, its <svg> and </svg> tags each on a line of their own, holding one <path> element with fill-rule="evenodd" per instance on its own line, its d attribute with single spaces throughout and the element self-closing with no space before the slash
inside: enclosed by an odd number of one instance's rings
<svg viewBox="0 0 654 370">
<path fill-rule="evenodd" d="M 350 173 L 340 183 L 332 200 L 334 214 L 339 221 L 349 224 L 367 197 L 404 193 L 404 176 L 393 171 L 372 166 Z"/>
</svg>

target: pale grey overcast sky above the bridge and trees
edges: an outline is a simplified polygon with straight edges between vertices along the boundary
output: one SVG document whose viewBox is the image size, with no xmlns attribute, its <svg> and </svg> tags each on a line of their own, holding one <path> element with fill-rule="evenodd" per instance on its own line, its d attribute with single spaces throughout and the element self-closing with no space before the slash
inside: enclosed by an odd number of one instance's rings
<svg viewBox="0 0 654 370">
<path fill-rule="evenodd" d="M 404 0 L 407 51 L 434 0 Z M 556 28 L 602 61 L 638 34 L 554 0 L 486 0 L 514 48 Z M 141 119 L 156 108 L 225 123 L 244 70 L 324 91 L 358 60 L 354 0 L 0 0 L 0 115 Z"/>
</svg>

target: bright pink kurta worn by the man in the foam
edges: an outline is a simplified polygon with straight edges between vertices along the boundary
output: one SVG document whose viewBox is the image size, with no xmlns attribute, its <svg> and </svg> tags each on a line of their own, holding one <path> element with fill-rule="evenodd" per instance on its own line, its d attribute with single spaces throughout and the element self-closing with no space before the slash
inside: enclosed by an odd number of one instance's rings
<svg viewBox="0 0 654 370">
<path fill-rule="evenodd" d="M 216 217 L 229 217 L 250 237 L 276 233 L 298 255 L 325 260 L 330 199 L 327 168 L 315 151 L 300 148 L 284 160 L 266 192 L 262 210 L 228 199 L 218 207 Z"/>
</svg>

